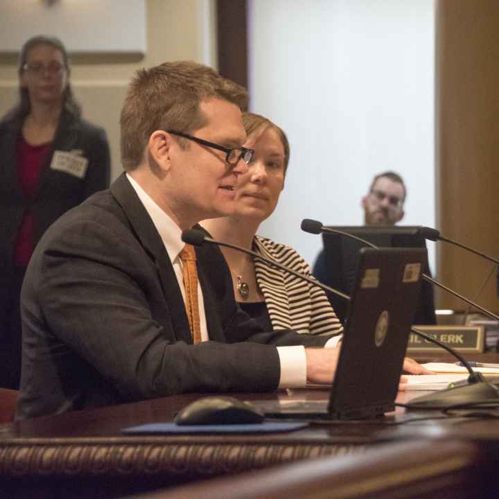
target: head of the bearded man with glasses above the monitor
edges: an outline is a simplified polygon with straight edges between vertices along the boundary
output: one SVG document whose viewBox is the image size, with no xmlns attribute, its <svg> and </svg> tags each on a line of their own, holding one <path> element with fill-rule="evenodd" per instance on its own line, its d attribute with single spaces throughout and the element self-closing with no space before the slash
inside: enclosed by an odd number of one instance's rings
<svg viewBox="0 0 499 499">
<path fill-rule="evenodd" d="M 392 171 L 374 177 L 369 193 L 362 198 L 365 225 L 395 225 L 404 216 L 405 184 Z"/>
</svg>

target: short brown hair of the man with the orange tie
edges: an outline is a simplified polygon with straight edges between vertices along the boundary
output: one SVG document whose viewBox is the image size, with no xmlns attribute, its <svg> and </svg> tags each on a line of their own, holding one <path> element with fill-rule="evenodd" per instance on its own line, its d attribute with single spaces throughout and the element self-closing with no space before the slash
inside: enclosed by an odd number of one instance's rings
<svg viewBox="0 0 499 499">
<path fill-rule="evenodd" d="M 213 69 L 190 61 L 165 62 L 137 71 L 121 110 L 121 162 L 126 171 L 142 161 L 155 130 L 192 133 L 206 125 L 200 103 L 220 98 L 247 108 L 247 91 Z"/>
</svg>

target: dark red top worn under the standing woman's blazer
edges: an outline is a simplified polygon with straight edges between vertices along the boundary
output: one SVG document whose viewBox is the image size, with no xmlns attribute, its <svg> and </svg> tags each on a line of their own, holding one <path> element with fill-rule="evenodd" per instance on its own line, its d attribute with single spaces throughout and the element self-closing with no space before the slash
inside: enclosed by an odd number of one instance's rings
<svg viewBox="0 0 499 499">
<path fill-rule="evenodd" d="M 30 202 L 35 199 L 40 187 L 40 176 L 42 166 L 46 155 L 51 150 L 52 143 L 44 143 L 39 146 L 32 146 L 24 140 L 22 133 L 17 137 L 17 174 L 19 175 L 19 184 L 28 203 L 26 211 L 21 221 L 21 226 L 17 232 L 17 238 L 14 247 L 14 263 L 26 267 L 30 261 L 33 249 L 35 249 L 33 238 L 33 211 L 31 211 Z"/>
</svg>

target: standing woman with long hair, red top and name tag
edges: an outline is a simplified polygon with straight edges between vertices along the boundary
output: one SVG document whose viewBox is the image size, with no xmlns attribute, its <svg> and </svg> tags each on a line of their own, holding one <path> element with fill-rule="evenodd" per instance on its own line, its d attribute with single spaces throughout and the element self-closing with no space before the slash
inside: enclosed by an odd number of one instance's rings
<svg viewBox="0 0 499 499">
<path fill-rule="evenodd" d="M 17 389 L 19 294 L 44 231 L 110 182 L 105 131 L 81 119 L 66 49 L 30 38 L 19 56 L 19 103 L 0 122 L 0 387 Z"/>
</svg>

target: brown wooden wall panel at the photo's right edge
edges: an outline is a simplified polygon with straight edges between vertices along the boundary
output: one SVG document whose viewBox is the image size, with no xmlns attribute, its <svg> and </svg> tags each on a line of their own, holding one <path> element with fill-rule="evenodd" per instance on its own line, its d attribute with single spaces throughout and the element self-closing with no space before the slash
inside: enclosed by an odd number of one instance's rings
<svg viewBox="0 0 499 499">
<path fill-rule="evenodd" d="M 499 255 L 499 1 L 437 1 L 437 227 Z M 475 297 L 493 264 L 437 243 L 437 277 Z M 439 308 L 466 304 L 438 293 Z M 478 302 L 499 310 L 496 271 Z"/>
</svg>

